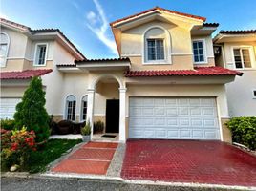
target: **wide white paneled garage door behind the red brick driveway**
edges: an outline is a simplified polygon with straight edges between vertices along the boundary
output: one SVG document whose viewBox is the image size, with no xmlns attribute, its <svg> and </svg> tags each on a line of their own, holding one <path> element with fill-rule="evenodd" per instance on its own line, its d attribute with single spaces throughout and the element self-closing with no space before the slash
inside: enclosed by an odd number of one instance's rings
<svg viewBox="0 0 256 191">
<path fill-rule="evenodd" d="M 215 98 L 131 97 L 129 138 L 220 139 Z"/>
</svg>

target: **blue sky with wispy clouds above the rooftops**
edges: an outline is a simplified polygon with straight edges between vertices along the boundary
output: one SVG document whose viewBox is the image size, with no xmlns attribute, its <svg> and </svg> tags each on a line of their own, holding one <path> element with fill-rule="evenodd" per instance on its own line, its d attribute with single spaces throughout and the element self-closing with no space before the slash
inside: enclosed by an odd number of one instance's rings
<svg viewBox="0 0 256 191">
<path fill-rule="evenodd" d="M 58 28 L 87 58 L 113 58 L 109 23 L 156 6 L 206 17 L 220 23 L 218 31 L 256 29 L 256 0 L 0 0 L 0 17 L 32 29 Z"/>
</svg>

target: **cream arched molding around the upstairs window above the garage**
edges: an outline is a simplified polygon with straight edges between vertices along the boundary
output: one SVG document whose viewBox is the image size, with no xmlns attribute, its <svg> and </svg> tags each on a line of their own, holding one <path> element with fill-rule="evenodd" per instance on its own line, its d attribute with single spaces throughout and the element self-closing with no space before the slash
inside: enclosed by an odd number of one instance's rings
<svg viewBox="0 0 256 191">
<path fill-rule="evenodd" d="M 162 26 L 160 25 L 154 25 L 154 26 L 150 26 L 149 28 L 147 28 L 144 32 L 143 32 L 143 35 L 142 35 L 142 50 L 141 50 L 141 53 L 142 53 L 142 63 L 146 63 L 146 35 L 148 32 L 150 32 L 151 30 L 153 29 L 160 29 L 161 31 L 163 31 L 165 33 L 165 37 L 166 39 L 164 38 L 165 40 L 165 46 L 164 48 L 166 50 L 164 50 L 165 52 L 165 61 L 168 62 L 168 63 L 171 63 L 171 35 L 170 35 L 170 32 L 168 32 L 168 30 L 164 29 Z"/>
</svg>

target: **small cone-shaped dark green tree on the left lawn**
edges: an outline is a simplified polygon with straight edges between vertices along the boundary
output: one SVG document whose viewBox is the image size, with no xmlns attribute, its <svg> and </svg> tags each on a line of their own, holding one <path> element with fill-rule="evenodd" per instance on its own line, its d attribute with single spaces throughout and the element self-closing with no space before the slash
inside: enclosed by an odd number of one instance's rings
<svg viewBox="0 0 256 191">
<path fill-rule="evenodd" d="M 45 102 L 42 80 L 33 77 L 29 88 L 22 97 L 22 101 L 16 106 L 14 119 L 17 129 L 25 126 L 28 131 L 34 131 L 36 142 L 46 140 L 50 136 L 49 115 L 45 109 Z"/>
</svg>

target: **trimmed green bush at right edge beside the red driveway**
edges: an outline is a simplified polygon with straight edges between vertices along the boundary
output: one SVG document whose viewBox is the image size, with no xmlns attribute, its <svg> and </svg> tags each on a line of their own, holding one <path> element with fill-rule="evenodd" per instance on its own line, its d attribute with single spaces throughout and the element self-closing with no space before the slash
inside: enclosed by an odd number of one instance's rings
<svg viewBox="0 0 256 191">
<path fill-rule="evenodd" d="M 256 149 L 256 117 L 233 117 L 227 123 L 234 142 Z"/>
</svg>

